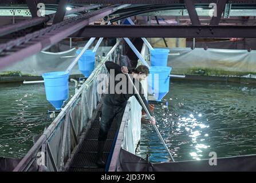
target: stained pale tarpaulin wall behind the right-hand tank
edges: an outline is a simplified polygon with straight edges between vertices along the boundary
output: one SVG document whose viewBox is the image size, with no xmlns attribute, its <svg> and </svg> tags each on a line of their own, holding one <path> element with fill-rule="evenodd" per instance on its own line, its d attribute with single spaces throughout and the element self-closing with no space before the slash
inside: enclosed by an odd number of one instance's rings
<svg viewBox="0 0 256 183">
<path fill-rule="evenodd" d="M 187 73 L 193 68 L 255 73 L 256 51 L 195 48 L 170 49 L 168 66 L 172 73 Z"/>
</svg>

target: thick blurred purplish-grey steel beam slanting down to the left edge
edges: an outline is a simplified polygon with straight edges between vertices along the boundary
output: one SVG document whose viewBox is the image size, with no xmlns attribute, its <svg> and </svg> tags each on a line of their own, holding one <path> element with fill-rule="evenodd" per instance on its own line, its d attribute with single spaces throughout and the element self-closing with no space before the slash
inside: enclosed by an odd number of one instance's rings
<svg viewBox="0 0 256 183">
<path fill-rule="evenodd" d="M 116 6 L 109 6 L 41 29 L 24 37 L 0 45 L 0 69 L 36 54 L 68 37 L 97 19 L 112 13 Z"/>
</svg>

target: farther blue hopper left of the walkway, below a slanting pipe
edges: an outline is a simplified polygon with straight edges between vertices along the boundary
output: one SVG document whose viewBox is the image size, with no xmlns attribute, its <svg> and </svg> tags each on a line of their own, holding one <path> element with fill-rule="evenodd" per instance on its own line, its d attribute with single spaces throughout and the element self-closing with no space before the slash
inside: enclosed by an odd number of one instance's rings
<svg viewBox="0 0 256 183">
<path fill-rule="evenodd" d="M 80 54 L 81 50 L 77 50 L 76 54 Z M 92 71 L 94 70 L 95 65 L 95 52 L 92 50 L 85 50 L 84 54 L 81 55 L 80 59 L 78 60 L 78 68 L 84 77 L 88 78 Z"/>
</svg>

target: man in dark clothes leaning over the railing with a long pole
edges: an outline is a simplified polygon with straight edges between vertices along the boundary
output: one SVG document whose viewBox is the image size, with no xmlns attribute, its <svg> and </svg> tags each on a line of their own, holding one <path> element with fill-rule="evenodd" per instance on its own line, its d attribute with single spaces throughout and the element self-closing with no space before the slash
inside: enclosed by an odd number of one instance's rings
<svg viewBox="0 0 256 183">
<path fill-rule="evenodd" d="M 105 97 L 103 99 L 103 108 L 101 112 L 100 133 L 98 138 L 99 144 L 98 144 L 98 153 L 97 153 L 97 161 L 96 161 L 96 164 L 99 167 L 105 167 L 105 162 L 102 160 L 102 155 L 103 155 L 105 141 L 107 140 L 108 131 L 111 128 L 113 119 L 116 118 L 117 124 L 120 126 L 121 120 L 124 114 L 124 109 L 125 109 L 125 106 L 127 105 L 127 101 L 129 100 L 129 97 L 135 96 L 137 101 L 140 103 L 140 100 L 137 97 L 137 94 L 134 92 L 132 83 L 129 82 L 127 75 L 125 75 L 126 73 L 130 75 L 133 83 L 135 83 L 136 88 L 137 86 L 139 86 L 139 88 L 137 88 L 137 91 L 139 91 L 140 97 L 143 100 L 145 106 L 147 107 L 148 112 L 151 113 L 147 100 L 144 97 L 143 87 L 139 82 L 141 80 L 144 80 L 149 74 L 148 67 L 144 65 L 140 65 L 135 69 L 128 70 L 127 67 L 125 66 L 121 67 L 120 65 L 114 62 L 105 62 L 105 66 L 107 67 L 107 70 L 110 73 L 110 82 L 108 87 L 108 93 L 105 94 Z M 115 79 L 116 77 L 125 78 L 125 79 L 121 79 L 121 81 L 116 81 Z M 114 81 L 115 83 L 113 85 Z M 120 90 L 116 89 L 116 86 L 119 82 L 123 82 L 122 83 L 123 85 L 121 85 Z M 155 124 L 154 117 L 151 118 L 151 123 Z"/>
</svg>

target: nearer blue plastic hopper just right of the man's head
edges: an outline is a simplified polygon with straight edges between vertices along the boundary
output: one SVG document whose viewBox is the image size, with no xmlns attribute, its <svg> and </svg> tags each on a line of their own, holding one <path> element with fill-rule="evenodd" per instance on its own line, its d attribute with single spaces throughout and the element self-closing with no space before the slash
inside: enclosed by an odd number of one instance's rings
<svg viewBox="0 0 256 183">
<path fill-rule="evenodd" d="M 161 101 L 169 92 L 172 67 L 151 66 L 148 77 L 148 92 L 153 94 L 156 101 Z"/>
</svg>

